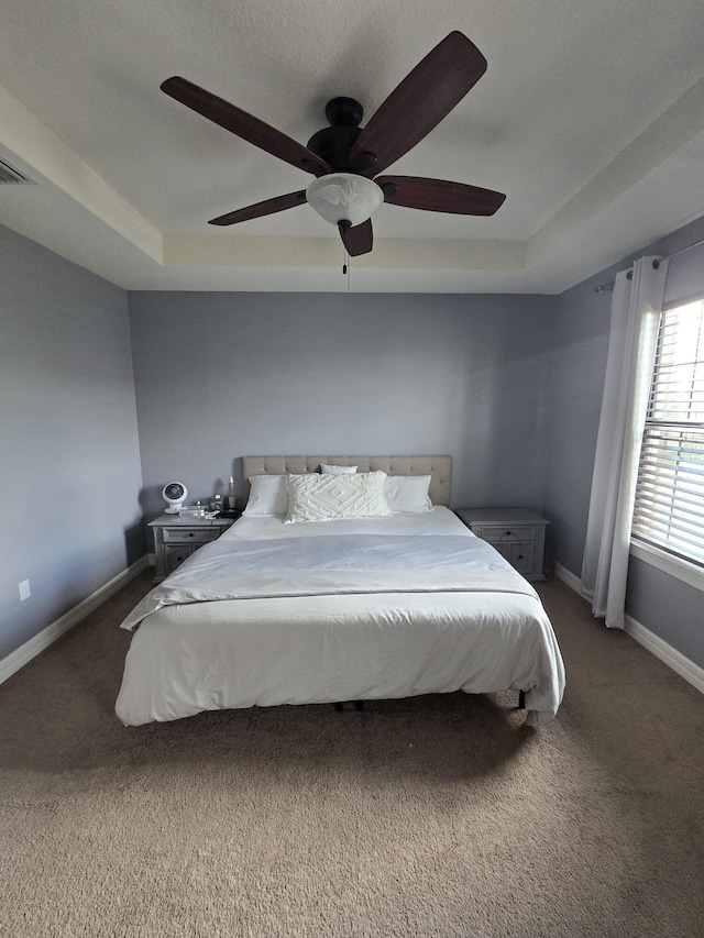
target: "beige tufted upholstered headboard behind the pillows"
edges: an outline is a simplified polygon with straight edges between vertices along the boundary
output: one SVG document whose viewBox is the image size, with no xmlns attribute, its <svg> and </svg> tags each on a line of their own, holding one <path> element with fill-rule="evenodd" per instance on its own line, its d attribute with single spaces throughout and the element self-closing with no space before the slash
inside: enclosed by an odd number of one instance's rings
<svg viewBox="0 0 704 938">
<path fill-rule="evenodd" d="M 250 494 L 251 475 L 318 472 L 321 463 L 356 466 L 358 472 L 381 470 L 387 475 L 429 475 L 432 504 L 450 504 L 452 456 L 242 456 L 245 495 Z"/>
</svg>

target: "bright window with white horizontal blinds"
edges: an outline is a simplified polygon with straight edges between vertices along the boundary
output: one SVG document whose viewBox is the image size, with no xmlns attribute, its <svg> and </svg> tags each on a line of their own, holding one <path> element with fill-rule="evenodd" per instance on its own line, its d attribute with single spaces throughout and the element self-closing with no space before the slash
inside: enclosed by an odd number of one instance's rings
<svg viewBox="0 0 704 938">
<path fill-rule="evenodd" d="M 704 567 L 704 300 L 660 317 L 632 537 Z"/>
</svg>

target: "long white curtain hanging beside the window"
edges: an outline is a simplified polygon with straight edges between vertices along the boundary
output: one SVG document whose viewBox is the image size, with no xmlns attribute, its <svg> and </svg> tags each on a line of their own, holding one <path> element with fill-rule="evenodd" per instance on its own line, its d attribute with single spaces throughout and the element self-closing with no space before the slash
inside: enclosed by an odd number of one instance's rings
<svg viewBox="0 0 704 938">
<path fill-rule="evenodd" d="M 624 628 L 626 578 L 642 428 L 668 262 L 641 257 L 616 276 L 596 440 L 582 586 L 595 616 Z"/>
</svg>

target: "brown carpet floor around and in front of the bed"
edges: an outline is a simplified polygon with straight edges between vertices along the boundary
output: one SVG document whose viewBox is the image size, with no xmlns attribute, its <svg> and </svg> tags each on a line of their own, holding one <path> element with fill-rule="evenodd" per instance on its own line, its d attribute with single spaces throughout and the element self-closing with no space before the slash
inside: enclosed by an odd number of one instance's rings
<svg viewBox="0 0 704 938">
<path fill-rule="evenodd" d="M 559 581 L 539 729 L 462 693 L 125 728 L 151 585 L 0 687 L 3 938 L 704 935 L 704 697 Z"/>
</svg>

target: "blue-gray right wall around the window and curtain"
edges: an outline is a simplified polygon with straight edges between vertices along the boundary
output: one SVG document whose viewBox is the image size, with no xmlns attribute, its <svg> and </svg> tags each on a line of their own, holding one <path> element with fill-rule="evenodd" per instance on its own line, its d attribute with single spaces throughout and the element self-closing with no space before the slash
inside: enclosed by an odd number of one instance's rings
<svg viewBox="0 0 704 938">
<path fill-rule="evenodd" d="M 559 297 L 547 413 L 548 550 L 580 577 L 602 391 L 608 352 L 610 298 L 597 284 L 613 282 L 636 256 L 669 255 L 704 238 L 704 219 L 654 242 Z M 670 262 L 666 300 L 704 290 L 704 250 Z M 704 667 L 704 593 L 651 564 L 630 559 L 626 611 Z"/>
</svg>

